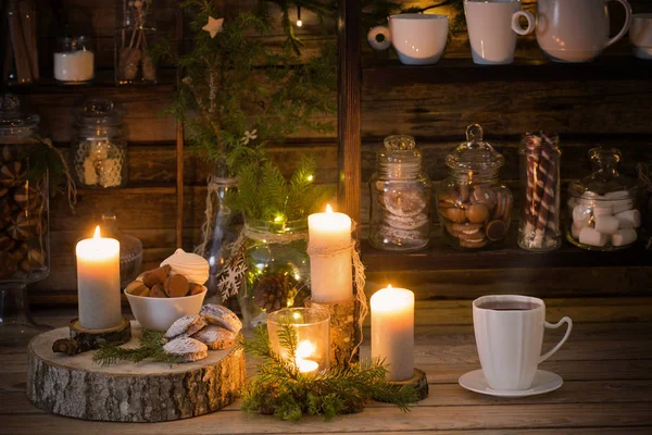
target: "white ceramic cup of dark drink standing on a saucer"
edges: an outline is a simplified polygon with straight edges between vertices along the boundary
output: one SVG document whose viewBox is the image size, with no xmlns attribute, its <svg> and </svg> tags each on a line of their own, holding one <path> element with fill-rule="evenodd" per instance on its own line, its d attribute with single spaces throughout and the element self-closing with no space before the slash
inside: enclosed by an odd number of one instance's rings
<svg viewBox="0 0 652 435">
<path fill-rule="evenodd" d="M 564 323 L 568 325 L 564 338 L 541 356 L 543 330 Z M 573 321 L 563 318 L 555 324 L 546 322 L 546 303 L 538 298 L 491 295 L 473 301 L 473 326 L 489 386 L 497 390 L 524 390 L 532 385 L 539 363 L 566 343 Z"/>
</svg>

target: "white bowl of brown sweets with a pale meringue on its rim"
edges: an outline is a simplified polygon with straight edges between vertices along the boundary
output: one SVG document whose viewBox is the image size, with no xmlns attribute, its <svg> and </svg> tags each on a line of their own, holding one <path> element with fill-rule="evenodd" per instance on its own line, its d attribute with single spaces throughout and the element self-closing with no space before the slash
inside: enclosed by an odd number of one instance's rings
<svg viewBox="0 0 652 435">
<path fill-rule="evenodd" d="M 167 331 L 177 319 L 199 314 L 206 296 L 203 283 L 208 278 L 208 261 L 178 249 L 160 268 L 129 283 L 125 295 L 142 327 Z"/>
</svg>

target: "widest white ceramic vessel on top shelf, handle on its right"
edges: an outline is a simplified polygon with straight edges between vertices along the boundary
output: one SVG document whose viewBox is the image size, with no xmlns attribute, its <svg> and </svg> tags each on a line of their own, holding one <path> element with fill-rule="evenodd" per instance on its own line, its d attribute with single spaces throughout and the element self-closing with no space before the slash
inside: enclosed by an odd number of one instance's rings
<svg viewBox="0 0 652 435">
<path fill-rule="evenodd" d="M 625 8 L 625 24 L 609 37 L 606 4 Z M 588 62 L 620 39 L 631 25 L 627 0 L 537 0 L 537 42 L 554 62 Z"/>
</svg>

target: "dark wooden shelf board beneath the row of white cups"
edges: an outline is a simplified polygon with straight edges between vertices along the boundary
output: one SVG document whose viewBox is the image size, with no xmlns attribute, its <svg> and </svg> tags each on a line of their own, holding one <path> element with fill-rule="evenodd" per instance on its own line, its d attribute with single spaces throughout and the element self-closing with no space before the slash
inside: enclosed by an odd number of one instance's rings
<svg viewBox="0 0 652 435">
<path fill-rule="evenodd" d="M 442 59 L 436 65 L 408 66 L 398 60 L 369 61 L 363 66 L 364 86 L 467 82 L 555 82 L 649 79 L 652 62 L 632 55 L 602 57 L 587 63 L 517 59 L 509 65 L 476 65 L 471 59 Z"/>
</svg>

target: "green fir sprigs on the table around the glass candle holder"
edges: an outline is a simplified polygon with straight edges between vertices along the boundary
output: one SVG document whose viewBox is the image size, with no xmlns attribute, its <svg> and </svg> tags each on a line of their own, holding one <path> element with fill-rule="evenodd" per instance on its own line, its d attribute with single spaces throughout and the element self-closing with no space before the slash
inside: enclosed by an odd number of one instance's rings
<svg viewBox="0 0 652 435">
<path fill-rule="evenodd" d="M 259 375 L 244 388 L 242 409 L 249 413 L 274 414 L 281 420 L 298 421 L 303 415 L 322 415 L 325 420 L 342 413 L 359 412 L 369 399 L 379 399 L 409 411 L 418 400 L 413 386 L 391 385 L 381 361 L 365 361 L 347 369 L 301 373 L 292 358 L 297 351 L 297 332 L 280 324 L 279 341 L 289 356 L 283 359 L 272 349 L 267 330 L 254 330 L 253 338 L 240 346 L 258 358 Z"/>
</svg>

